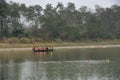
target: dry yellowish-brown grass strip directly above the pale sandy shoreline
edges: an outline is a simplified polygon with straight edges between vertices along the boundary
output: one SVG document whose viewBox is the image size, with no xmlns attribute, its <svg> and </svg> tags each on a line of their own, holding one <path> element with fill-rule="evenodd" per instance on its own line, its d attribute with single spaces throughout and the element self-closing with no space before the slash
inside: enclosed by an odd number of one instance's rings
<svg viewBox="0 0 120 80">
<path fill-rule="evenodd" d="M 46 41 L 34 43 L 0 42 L 0 48 L 28 48 L 33 46 L 89 46 L 89 45 L 120 45 L 120 39 L 114 40 L 83 40 L 78 42 Z"/>
</svg>

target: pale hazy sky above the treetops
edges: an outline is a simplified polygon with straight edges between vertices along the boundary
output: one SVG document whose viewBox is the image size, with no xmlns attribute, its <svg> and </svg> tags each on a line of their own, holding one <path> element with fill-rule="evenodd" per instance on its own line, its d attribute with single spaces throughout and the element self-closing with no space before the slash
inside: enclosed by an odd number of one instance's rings
<svg viewBox="0 0 120 80">
<path fill-rule="evenodd" d="M 42 7 L 45 7 L 47 3 L 53 4 L 56 6 L 58 2 L 62 2 L 66 5 L 68 2 L 75 4 L 76 8 L 80 8 L 85 5 L 89 8 L 94 8 L 95 5 L 100 5 L 102 7 L 110 7 L 113 4 L 120 4 L 120 0 L 6 0 L 19 3 L 25 3 L 27 6 L 39 4 Z"/>
</svg>

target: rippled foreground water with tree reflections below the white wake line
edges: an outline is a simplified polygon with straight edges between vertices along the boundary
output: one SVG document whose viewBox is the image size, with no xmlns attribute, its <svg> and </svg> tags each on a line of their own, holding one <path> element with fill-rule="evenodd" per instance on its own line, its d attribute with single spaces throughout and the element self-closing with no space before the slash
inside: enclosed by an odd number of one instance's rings
<svg viewBox="0 0 120 80">
<path fill-rule="evenodd" d="M 0 62 L 0 79 L 8 80 L 117 80 L 120 68 L 107 63 L 28 61 L 16 64 Z M 116 65 L 119 66 L 119 65 Z"/>
</svg>

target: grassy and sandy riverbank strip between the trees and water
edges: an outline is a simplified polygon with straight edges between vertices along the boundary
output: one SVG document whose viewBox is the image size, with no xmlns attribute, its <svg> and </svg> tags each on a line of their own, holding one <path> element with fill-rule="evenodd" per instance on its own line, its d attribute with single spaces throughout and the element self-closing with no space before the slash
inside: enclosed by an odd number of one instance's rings
<svg viewBox="0 0 120 80">
<path fill-rule="evenodd" d="M 53 46 L 55 49 L 71 48 L 109 48 L 120 47 L 120 39 L 114 40 L 96 40 L 96 41 L 79 41 L 79 42 L 42 42 L 34 44 L 5 44 L 0 43 L 0 51 L 8 50 L 31 50 L 33 46 Z"/>
</svg>

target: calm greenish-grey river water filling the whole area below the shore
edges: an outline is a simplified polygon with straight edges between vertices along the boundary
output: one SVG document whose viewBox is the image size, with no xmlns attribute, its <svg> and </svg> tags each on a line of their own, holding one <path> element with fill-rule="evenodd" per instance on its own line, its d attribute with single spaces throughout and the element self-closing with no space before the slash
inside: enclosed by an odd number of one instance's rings
<svg viewBox="0 0 120 80">
<path fill-rule="evenodd" d="M 0 80 L 120 80 L 120 48 L 0 52 Z"/>
</svg>

